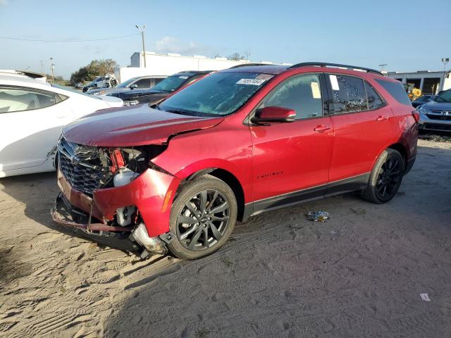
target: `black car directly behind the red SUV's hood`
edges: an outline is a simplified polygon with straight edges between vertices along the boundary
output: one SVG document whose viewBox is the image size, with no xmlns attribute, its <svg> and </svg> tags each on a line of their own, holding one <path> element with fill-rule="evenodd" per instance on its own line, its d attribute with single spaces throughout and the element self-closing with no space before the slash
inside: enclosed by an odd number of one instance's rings
<svg viewBox="0 0 451 338">
<path fill-rule="evenodd" d="M 123 99 L 125 106 L 135 104 L 152 104 L 156 101 L 164 99 L 176 90 L 190 84 L 199 78 L 211 73 L 211 70 L 190 70 L 180 72 L 159 82 L 151 89 L 145 90 L 127 90 L 115 91 L 113 90 L 108 95 L 116 96 Z"/>
</svg>

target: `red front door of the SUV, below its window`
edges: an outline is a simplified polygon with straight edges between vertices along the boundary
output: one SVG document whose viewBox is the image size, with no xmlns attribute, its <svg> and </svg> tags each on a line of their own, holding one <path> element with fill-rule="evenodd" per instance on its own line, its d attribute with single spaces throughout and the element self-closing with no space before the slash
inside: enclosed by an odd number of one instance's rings
<svg viewBox="0 0 451 338">
<path fill-rule="evenodd" d="M 315 131 L 318 126 L 330 129 Z M 328 182 L 333 128 L 330 117 L 251 126 L 254 201 Z"/>
</svg>

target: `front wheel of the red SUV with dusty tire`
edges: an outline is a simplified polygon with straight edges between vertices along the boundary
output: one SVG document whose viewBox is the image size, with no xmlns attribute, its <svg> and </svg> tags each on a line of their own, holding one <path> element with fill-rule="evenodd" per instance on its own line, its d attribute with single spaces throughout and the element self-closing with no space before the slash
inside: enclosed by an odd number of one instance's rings
<svg viewBox="0 0 451 338">
<path fill-rule="evenodd" d="M 227 242 L 236 219 L 237 201 L 226 182 L 211 175 L 187 182 L 171 208 L 175 238 L 168 248 L 178 258 L 208 256 Z"/>
</svg>

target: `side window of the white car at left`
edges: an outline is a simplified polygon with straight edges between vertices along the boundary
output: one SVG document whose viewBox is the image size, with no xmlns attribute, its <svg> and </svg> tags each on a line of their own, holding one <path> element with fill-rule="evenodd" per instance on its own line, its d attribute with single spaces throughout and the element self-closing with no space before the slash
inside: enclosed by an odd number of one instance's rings
<svg viewBox="0 0 451 338">
<path fill-rule="evenodd" d="M 51 92 L 39 92 L 28 88 L 0 88 L 0 113 L 31 111 L 53 106 L 66 97 Z"/>
</svg>

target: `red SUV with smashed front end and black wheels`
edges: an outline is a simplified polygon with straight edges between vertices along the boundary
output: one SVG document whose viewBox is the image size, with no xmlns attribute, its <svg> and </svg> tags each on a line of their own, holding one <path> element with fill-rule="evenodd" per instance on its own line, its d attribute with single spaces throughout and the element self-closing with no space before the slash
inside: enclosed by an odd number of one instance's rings
<svg viewBox="0 0 451 338">
<path fill-rule="evenodd" d="M 351 191 L 390 201 L 414 164 L 418 120 L 402 84 L 377 70 L 222 70 L 154 106 L 66 126 L 51 214 L 142 257 L 199 258 L 264 211 Z"/>
</svg>

